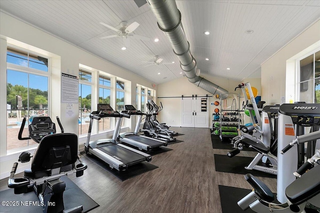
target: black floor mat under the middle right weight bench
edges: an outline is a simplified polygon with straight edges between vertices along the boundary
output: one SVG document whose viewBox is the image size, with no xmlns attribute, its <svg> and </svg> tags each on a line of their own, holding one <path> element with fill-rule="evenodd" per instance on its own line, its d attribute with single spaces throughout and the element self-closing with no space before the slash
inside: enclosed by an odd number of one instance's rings
<svg viewBox="0 0 320 213">
<path fill-rule="evenodd" d="M 252 160 L 253 158 L 250 157 L 234 156 L 233 158 L 229 158 L 226 155 L 214 155 L 215 171 L 243 175 L 250 173 L 254 176 L 276 178 L 276 175 L 273 174 L 245 169 L 244 167 L 248 166 Z M 261 164 L 258 165 L 262 166 L 263 163 L 261 162 Z"/>
</svg>

